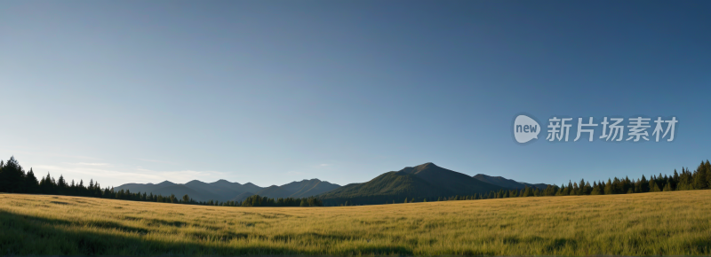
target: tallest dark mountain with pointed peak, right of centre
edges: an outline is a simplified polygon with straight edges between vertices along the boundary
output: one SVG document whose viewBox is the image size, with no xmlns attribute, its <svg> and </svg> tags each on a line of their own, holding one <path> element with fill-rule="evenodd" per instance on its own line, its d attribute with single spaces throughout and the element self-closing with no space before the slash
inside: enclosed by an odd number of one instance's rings
<svg viewBox="0 0 711 257">
<path fill-rule="evenodd" d="M 319 195 L 326 204 L 383 204 L 408 199 L 437 199 L 498 191 L 502 187 L 479 181 L 433 163 L 405 167 L 379 175 L 366 183 L 352 183 Z"/>
</svg>

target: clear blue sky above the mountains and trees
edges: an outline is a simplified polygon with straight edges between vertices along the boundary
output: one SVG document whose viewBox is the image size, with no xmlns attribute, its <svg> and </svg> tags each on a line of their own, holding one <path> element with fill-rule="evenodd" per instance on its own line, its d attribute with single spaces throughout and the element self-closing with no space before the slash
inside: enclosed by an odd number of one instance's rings
<svg viewBox="0 0 711 257">
<path fill-rule="evenodd" d="M 0 157 L 102 186 L 361 183 L 425 162 L 558 184 L 693 169 L 711 159 L 709 13 L 708 1 L 2 1 Z M 522 112 L 679 123 L 671 143 L 544 131 L 519 145 Z"/>
</svg>

